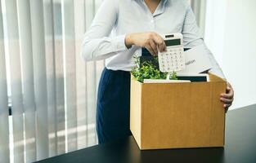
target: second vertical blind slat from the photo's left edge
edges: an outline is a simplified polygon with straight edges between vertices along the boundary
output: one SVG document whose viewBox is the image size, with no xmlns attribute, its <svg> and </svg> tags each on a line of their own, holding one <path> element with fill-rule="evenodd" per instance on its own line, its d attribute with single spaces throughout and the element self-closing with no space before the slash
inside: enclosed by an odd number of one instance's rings
<svg viewBox="0 0 256 163">
<path fill-rule="evenodd" d="M 20 42 L 16 0 L 6 2 L 7 37 L 11 72 L 11 108 L 13 121 L 14 162 L 24 162 L 23 99 L 21 87 Z"/>
</svg>

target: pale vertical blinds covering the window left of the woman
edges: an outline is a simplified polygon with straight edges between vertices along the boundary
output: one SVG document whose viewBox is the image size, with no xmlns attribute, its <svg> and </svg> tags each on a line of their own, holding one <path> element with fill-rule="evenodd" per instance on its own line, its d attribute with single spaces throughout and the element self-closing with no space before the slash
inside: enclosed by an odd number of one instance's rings
<svg viewBox="0 0 256 163">
<path fill-rule="evenodd" d="M 80 50 L 100 4 L 0 0 L 0 162 L 33 162 L 97 143 L 104 61 L 85 63 Z M 201 2 L 191 4 L 200 9 Z"/>
</svg>

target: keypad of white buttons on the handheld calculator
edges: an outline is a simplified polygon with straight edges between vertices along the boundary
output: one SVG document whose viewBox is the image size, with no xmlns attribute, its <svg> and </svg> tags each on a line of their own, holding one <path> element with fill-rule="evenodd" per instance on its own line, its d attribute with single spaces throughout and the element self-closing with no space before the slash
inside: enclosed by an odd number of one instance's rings
<svg viewBox="0 0 256 163">
<path fill-rule="evenodd" d="M 181 71 L 185 68 L 184 51 L 182 47 L 170 48 L 159 53 L 159 70 L 164 73 Z"/>
</svg>

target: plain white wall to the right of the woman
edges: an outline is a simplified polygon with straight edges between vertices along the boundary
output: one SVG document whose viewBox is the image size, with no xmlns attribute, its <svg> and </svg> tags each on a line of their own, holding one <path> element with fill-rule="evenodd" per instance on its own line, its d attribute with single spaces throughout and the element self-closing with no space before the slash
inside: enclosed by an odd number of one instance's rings
<svg viewBox="0 0 256 163">
<path fill-rule="evenodd" d="M 255 15 L 255 0 L 207 0 L 204 39 L 234 87 L 232 108 L 256 104 Z"/>
</svg>

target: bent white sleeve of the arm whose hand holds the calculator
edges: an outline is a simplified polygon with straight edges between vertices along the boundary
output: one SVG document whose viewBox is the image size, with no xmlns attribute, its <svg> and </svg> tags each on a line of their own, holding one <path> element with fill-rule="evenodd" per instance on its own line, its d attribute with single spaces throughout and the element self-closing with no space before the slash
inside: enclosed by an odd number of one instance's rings
<svg viewBox="0 0 256 163">
<path fill-rule="evenodd" d="M 83 37 L 83 59 L 86 61 L 106 59 L 127 50 L 124 42 L 125 35 L 110 37 L 118 14 L 118 1 L 104 0 L 101 3 L 91 27 Z"/>
</svg>

